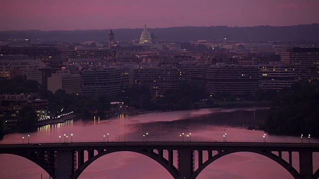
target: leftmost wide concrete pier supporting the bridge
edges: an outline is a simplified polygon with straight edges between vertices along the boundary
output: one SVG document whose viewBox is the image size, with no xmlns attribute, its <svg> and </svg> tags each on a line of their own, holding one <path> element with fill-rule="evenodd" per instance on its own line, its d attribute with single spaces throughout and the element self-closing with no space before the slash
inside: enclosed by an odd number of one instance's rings
<svg viewBox="0 0 319 179">
<path fill-rule="evenodd" d="M 72 175 L 72 151 L 57 151 L 55 179 L 70 179 Z"/>
</svg>

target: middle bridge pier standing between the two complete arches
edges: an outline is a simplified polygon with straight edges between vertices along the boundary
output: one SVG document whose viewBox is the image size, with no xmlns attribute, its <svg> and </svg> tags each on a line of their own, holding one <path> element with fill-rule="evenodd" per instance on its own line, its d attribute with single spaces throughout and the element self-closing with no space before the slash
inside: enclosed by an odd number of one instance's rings
<svg viewBox="0 0 319 179">
<path fill-rule="evenodd" d="M 194 179 L 192 151 L 187 148 L 180 148 L 178 150 L 178 176 L 176 179 Z"/>
</svg>

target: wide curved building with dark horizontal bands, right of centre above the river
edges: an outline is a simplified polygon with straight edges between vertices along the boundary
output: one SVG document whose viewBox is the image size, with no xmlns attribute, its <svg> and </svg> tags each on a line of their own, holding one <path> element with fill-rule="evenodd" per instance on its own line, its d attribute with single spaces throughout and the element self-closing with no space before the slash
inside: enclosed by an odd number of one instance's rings
<svg viewBox="0 0 319 179">
<path fill-rule="evenodd" d="M 230 92 L 240 96 L 245 92 L 255 93 L 261 80 L 257 66 L 237 66 L 217 63 L 206 73 L 208 93 Z"/>
</svg>

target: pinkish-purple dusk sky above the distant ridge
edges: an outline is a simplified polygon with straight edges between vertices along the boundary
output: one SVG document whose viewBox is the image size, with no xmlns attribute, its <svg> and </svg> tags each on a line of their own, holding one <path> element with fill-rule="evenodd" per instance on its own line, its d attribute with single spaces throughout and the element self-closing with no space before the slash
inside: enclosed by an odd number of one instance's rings
<svg viewBox="0 0 319 179">
<path fill-rule="evenodd" d="M 0 0 L 0 30 L 319 23 L 319 0 Z"/>
</svg>

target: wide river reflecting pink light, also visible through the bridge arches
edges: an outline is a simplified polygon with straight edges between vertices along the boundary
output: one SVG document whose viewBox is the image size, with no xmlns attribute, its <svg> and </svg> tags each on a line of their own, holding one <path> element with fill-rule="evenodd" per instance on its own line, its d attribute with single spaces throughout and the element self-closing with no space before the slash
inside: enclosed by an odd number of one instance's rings
<svg viewBox="0 0 319 179">
<path fill-rule="evenodd" d="M 264 121 L 267 108 L 211 108 L 187 111 L 152 112 L 102 120 L 94 117 L 87 120 L 69 120 L 62 124 L 40 127 L 27 134 L 5 135 L 0 144 L 24 143 L 30 135 L 30 143 L 64 142 L 63 134 L 71 134 L 73 142 L 103 141 L 109 133 L 109 141 L 143 141 L 148 132 L 149 141 L 179 141 L 179 135 L 191 133 L 191 141 L 263 142 L 264 131 L 246 130 Z M 305 135 L 305 134 L 304 134 Z M 146 139 L 145 139 L 146 140 Z M 308 139 L 304 139 L 308 142 Z M 301 142 L 300 137 L 266 134 L 266 142 Z M 319 140 L 312 138 L 312 143 Z M 314 171 L 319 168 L 319 155 L 314 155 Z M 283 153 L 288 160 L 288 154 Z M 27 159 L 0 154 L 1 179 L 49 179 L 48 174 Z M 293 155 L 293 166 L 299 171 L 297 155 Z M 117 152 L 105 155 L 93 162 L 79 179 L 172 179 L 157 162 L 132 152 Z M 196 179 L 293 179 L 279 164 L 259 154 L 241 152 L 226 155 L 206 167 Z"/>
</svg>

